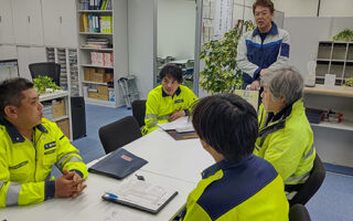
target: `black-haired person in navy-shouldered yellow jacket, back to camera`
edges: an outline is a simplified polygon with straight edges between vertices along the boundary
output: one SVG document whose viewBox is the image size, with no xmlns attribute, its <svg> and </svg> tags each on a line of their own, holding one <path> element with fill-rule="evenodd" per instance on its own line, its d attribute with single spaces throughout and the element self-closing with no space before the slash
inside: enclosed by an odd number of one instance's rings
<svg viewBox="0 0 353 221">
<path fill-rule="evenodd" d="M 282 179 L 269 162 L 253 155 L 258 133 L 255 108 L 234 94 L 208 96 L 196 104 L 192 123 L 215 164 L 202 172 L 181 220 L 288 220 Z"/>
</svg>

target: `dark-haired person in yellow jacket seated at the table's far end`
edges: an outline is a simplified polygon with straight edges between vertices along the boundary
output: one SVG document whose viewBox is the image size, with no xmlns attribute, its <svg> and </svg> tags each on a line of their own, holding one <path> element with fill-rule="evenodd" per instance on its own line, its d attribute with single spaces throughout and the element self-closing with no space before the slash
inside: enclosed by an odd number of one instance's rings
<svg viewBox="0 0 353 221">
<path fill-rule="evenodd" d="M 143 135 L 157 129 L 157 124 L 188 116 L 191 105 L 197 101 L 196 95 L 190 88 L 181 85 L 183 72 L 179 66 L 167 64 L 159 76 L 162 85 L 150 91 L 147 97 Z"/>
</svg>

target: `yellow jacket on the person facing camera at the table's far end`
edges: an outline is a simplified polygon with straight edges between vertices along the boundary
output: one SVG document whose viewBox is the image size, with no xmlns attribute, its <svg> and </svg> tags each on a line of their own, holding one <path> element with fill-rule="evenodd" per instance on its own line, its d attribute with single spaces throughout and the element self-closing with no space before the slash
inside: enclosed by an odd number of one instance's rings
<svg viewBox="0 0 353 221">
<path fill-rule="evenodd" d="M 147 97 L 142 134 L 157 129 L 157 124 L 168 123 L 170 115 L 176 110 L 183 109 L 189 115 L 190 107 L 196 99 L 196 95 L 183 85 L 179 85 L 173 96 L 164 93 L 162 85 L 154 87 Z"/>
</svg>

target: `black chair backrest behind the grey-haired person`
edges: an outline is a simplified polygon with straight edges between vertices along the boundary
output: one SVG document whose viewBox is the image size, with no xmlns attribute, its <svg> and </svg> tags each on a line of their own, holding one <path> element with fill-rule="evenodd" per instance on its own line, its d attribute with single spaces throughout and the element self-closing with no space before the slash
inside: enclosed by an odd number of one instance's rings
<svg viewBox="0 0 353 221">
<path fill-rule="evenodd" d="M 308 180 L 301 186 L 298 193 L 291 200 L 289 200 L 290 206 L 296 203 L 306 204 L 321 187 L 325 173 L 327 171 L 323 167 L 323 164 L 320 157 L 317 155 Z"/>
</svg>

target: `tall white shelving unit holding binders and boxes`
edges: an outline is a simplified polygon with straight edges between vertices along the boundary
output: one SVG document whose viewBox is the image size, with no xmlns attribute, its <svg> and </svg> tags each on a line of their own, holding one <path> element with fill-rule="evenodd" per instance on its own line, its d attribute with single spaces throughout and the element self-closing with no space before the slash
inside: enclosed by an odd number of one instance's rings
<svg viewBox="0 0 353 221">
<path fill-rule="evenodd" d="M 111 10 L 83 10 L 79 0 L 76 0 L 77 8 L 77 32 L 78 32 L 78 73 L 79 73 L 79 94 L 85 96 L 85 102 L 87 104 L 103 105 L 108 107 L 118 107 L 125 105 L 122 99 L 121 91 L 119 90 L 118 80 L 121 76 L 128 75 L 128 30 L 127 30 L 127 19 L 128 19 L 128 0 L 111 0 Z M 113 19 L 113 33 L 93 33 L 93 32 L 82 32 L 81 30 L 81 15 L 82 14 L 93 14 L 93 15 L 111 15 Z M 86 48 L 87 38 L 103 38 L 108 39 L 108 49 L 94 49 Z M 114 65 L 113 66 L 97 66 L 93 65 L 90 62 L 90 53 L 101 52 L 110 53 L 113 52 Z M 87 93 L 84 92 L 86 88 L 97 88 L 99 85 L 108 85 L 107 83 L 98 83 L 93 81 L 84 81 L 84 69 L 99 69 L 107 72 L 113 72 L 113 84 L 109 86 L 114 87 L 115 101 L 101 101 L 98 98 L 87 97 Z"/>
</svg>

